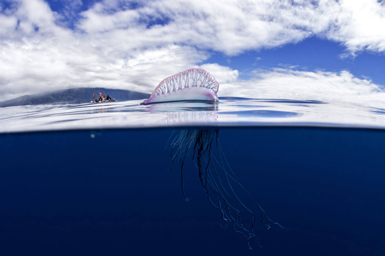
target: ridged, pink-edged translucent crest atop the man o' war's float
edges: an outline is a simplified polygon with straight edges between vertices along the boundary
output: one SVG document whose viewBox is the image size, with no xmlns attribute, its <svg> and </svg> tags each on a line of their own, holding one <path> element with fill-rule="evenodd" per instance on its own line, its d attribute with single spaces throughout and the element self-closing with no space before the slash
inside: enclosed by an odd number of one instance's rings
<svg viewBox="0 0 385 256">
<path fill-rule="evenodd" d="M 150 98 L 190 87 L 204 87 L 217 93 L 219 84 L 208 71 L 201 68 L 191 68 L 165 78 L 156 86 Z"/>
</svg>

